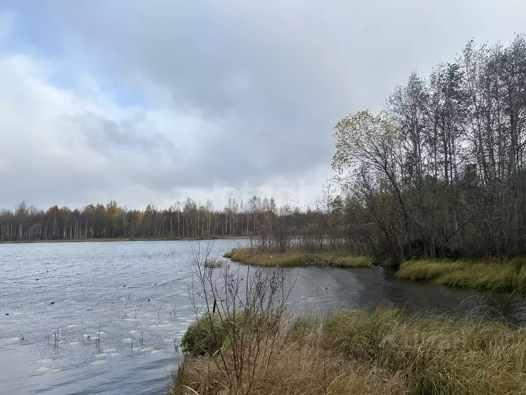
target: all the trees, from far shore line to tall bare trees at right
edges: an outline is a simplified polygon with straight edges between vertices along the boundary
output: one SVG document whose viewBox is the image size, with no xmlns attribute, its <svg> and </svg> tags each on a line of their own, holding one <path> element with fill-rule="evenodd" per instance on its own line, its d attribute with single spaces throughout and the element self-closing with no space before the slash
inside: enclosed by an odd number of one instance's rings
<svg viewBox="0 0 526 395">
<path fill-rule="evenodd" d="M 469 42 L 428 76 L 410 74 L 379 114 L 333 130 L 333 170 L 316 208 L 187 199 L 168 209 L 112 201 L 0 212 L 0 241 L 257 237 L 399 264 L 411 258 L 526 255 L 526 38 Z"/>
</svg>

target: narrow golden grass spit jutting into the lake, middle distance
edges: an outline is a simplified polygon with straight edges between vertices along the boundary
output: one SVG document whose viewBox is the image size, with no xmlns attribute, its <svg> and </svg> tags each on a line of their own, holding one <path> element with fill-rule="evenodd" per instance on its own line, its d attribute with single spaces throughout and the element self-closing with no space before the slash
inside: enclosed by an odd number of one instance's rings
<svg viewBox="0 0 526 395">
<path fill-rule="evenodd" d="M 372 259 L 367 256 L 350 255 L 345 252 L 308 253 L 289 251 L 276 253 L 264 249 L 234 249 L 228 251 L 225 258 L 234 262 L 257 266 L 339 266 L 341 268 L 369 267 Z"/>
</svg>

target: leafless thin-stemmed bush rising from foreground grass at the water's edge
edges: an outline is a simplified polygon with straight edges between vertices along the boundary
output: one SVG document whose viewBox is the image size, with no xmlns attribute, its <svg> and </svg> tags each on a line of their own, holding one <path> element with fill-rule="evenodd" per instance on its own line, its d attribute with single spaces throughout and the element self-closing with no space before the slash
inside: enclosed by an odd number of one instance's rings
<svg viewBox="0 0 526 395">
<path fill-rule="evenodd" d="M 295 279 L 281 269 L 240 268 L 231 263 L 211 270 L 210 245 L 193 251 L 195 275 L 190 288 L 196 322 L 182 342 L 190 355 L 205 355 L 229 389 L 250 391 L 256 366 L 270 363 L 284 324 L 285 305 Z M 266 362 L 262 361 L 266 358 Z M 184 364 L 179 368 L 184 373 Z"/>
</svg>

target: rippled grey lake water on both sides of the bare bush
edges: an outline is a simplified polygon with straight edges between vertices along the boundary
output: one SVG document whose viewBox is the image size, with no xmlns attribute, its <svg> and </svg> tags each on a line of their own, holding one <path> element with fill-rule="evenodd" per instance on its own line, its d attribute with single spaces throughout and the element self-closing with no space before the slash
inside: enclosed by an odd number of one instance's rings
<svg viewBox="0 0 526 395">
<path fill-rule="evenodd" d="M 215 241 L 213 249 L 222 254 L 236 243 L 244 242 Z M 174 342 L 193 321 L 188 287 L 197 246 L 0 244 L 0 393 L 165 393 L 181 361 Z M 526 321 L 523 300 L 393 279 L 381 268 L 286 271 L 297 279 L 294 310 L 399 305 Z"/>
</svg>

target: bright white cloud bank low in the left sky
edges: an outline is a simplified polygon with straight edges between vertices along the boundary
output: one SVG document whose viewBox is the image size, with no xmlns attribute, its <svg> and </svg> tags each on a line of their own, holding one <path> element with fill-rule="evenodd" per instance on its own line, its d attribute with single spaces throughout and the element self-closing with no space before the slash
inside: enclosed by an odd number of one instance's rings
<svg viewBox="0 0 526 395">
<path fill-rule="evenodd" d="M 308 190 L 279 178 L 254 186 L 189 187 L 184 172 L 199 161 L 199 143 L 220 133 L 216 125 L 166 108 L 119 106 L 93 77 L 79 78 L 77 88 L 57 88 L 47 82 L 52 72 L 48 63 L 29 55 L 0 58 L 0 200 L 5 206 L 21 200 L 42 208 L 82 206 L 109 199 L 128 207 L 165 206 L 187 196 L 222 206 L 229 194 L 238 200 L 257 193 L 285 201 Z M 228 161 L 228 153 L 216 155 Z M 158 183 L 164 186 L 157 189 Z"/>
</svg>

